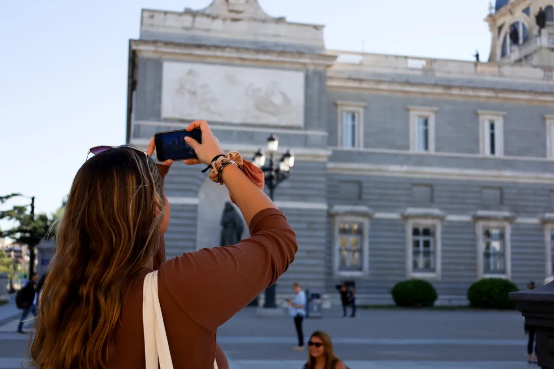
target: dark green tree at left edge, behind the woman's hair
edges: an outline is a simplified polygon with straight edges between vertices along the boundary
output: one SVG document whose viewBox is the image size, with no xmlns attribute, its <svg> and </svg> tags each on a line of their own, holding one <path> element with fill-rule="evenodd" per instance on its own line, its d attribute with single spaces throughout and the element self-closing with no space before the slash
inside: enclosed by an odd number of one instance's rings
<svg viewBox="0 0 554 369">
<path fill-rule="evenodd" d="M 0 203 L 6 202 L 8 199 L 18 197 L 20 194 L 12 193 L 7 196 L 0 196 Z M 0 237 L 10 238 L 14 243 L 25 244 L 30 250 L 30 268 L 29 271 L 34 271 L 34 253 L 35 247 L 43 239 L 52 237 L 49 230 L 53 219 L 47 214 L 41 213 L 38 215 L 28 212 L 28 206 L 14 206 L 5 211 L 0 211 L 0 220 L 5 219 L 14 222 L 12 228 L 0 230 Z"/>
</svg>

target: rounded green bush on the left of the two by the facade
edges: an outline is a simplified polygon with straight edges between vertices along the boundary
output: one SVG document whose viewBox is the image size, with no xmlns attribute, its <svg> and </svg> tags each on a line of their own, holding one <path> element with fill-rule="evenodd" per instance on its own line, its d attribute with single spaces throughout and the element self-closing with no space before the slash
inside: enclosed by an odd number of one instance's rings
<svg viewBox="0 0 554 369">
<path fill-rule="evenodd" d="M 426 280 L 410 279 L 398 282 L 391 290 L 398 306 L 433 306 L 439 298 L 437 291 Z"/>
</svg>

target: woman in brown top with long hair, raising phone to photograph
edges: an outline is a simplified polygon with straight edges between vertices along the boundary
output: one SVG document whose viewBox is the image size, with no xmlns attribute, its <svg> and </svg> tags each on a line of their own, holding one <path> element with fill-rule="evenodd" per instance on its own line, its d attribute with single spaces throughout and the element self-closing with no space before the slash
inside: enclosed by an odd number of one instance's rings
<svg viewBox="0 0 554 369">
<path fill-rule="evenodd" d="M 284 214 L 236 156 L 225 156 L 207 123 L 193 122 L 187 130 L 194 128 L 202 130 L 202 143 L 187 143 L 199 159 L 185 163 L 213 163 L 209 177 L 225 184 L 251 236 L 166 262 L 170 206 L 163 175 L 172 162 L 156 168 L 153 141 L 146 153 L 129 146 L 91 150 L 96 155 L 77 172 L 58 225 L 30 348 L 35 366 L 145 368 L 143 281 L 157 270 L 172 367 L 228 369 L 218 327 L 275 283 L 293 262 L 297 243 Z M 183 191 L 195 196 L 197 189 Z"/>
</svg>

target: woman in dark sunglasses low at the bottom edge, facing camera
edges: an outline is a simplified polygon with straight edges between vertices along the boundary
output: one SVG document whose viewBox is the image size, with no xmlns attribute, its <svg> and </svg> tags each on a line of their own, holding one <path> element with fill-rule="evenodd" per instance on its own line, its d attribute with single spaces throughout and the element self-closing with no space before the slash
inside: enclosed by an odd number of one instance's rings
<svg viewBox="0 0 554 369">
<path fill-rule="evenodd" d="M 302 369 L 348 369 L 338 360 L 329 333 L 315 331 L 308 341 L 308 362 Z"/>
</svg>

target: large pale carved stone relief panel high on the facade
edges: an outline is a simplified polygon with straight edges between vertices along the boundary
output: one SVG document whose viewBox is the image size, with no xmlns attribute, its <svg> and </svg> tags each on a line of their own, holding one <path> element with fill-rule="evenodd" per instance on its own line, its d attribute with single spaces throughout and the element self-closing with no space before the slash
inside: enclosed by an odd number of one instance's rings
<svg viewBox="0 0 554 369">
<path fill-rule="evenodd" d="M 304 71 L 165 61 L 162 117 L 304 126 Z"/>
</svg>

